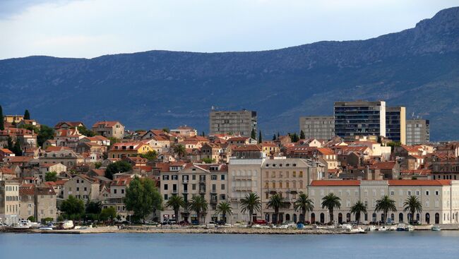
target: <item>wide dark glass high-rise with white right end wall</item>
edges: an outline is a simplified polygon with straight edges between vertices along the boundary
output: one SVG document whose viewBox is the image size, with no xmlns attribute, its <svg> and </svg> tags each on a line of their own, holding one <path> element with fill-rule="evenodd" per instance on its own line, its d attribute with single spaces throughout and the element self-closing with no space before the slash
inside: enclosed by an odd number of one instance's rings
<svg viewBox="0 0 459 259">
<path fill-rule="evenodd" d="M 335 135 L 354 140 L 356 135 L 386 136 L 386 102 L 335 102 Z"/>
</svg>

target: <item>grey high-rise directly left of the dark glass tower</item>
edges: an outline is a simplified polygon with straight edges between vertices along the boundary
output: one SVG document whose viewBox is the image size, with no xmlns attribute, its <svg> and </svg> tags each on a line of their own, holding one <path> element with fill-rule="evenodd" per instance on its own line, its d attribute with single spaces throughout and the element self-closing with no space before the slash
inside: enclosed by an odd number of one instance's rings
<svg viewBox="0 0 459 259">
<path fill-rule="evenodd" d="M 299 117 L 299 130 L 305 138 L 329 140 L 335 136 L 335 118 L 333 116 Z"/>
</svg>

